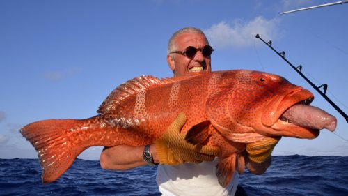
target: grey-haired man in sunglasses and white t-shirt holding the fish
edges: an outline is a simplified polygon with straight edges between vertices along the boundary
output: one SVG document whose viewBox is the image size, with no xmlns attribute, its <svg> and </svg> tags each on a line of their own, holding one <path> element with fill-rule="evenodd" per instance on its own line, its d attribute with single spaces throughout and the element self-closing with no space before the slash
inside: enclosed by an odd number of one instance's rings
<svg viewBox="0 0 348 196">
<path fill-rule="evenodd" d="M 175 77 L 186 75 L 190 72 L 211 71 L 211 56 L 212 47 L 209 46 L 205 34 L 193 27 L 180 29 L 173 34 L 168 43 L 167 62 L 169 68 L 173 70 Z M 184 119 L 186 120 L 186 119 Z M 176 119 L 175 121 L 180 121 Z M 181 125 L 182 126 L 182 125 Z M 180 130 L 181 126 L 177 129 Z M 168 131 L 168 130 L 167 130 Z M 184 139 L 182 139 L 184 140 Z M 184 141 L 182 141 L 184 142 Z M 278 142 L 278 140 L 276 140 Z M 254 149 L 258 149 L 252 160 L 249 160 L 248 153 L 245 153 L 246 167 L 254 174 L 263 174 L 267 167 L 271 164 L 271 150 L 276 145 L 267 145 L 260 152 L 260 145 L 256 144 L 248 149 L 248 152 L 253 153 Z M 148 150 L 146 146 L 114 146 L 105 148 L 100 156 L 100 163 L 103 169 L 131 169 L 146 165 L 143 161 L 143 151 Z M 261 148 L 262 149 L 262 148 Z M 214 151 L 214 149 L 209 149 Z M 191 151 L 194 151 L 191 149 Z M 127 153 L 125 153 L 127 152 Z M 122 153 L 122 156 L 118 156 Z M 152 154 L 152 162 L 159 163 L 158 148 L 155 144 L 150 145 L 150 153 Z M 206 156 L 195 157 L 196 161 L 182 156 L 180 163 L 182 165 L 159 165 L 157 172 L 157 184 L 159 191 L 163 195 L 235 195 L 237 185 L 239 183 L 239 176 L 235 172 L 232 181 L 226 188 L 219 185 L 215 174 L 215 166 L 219 159 L 212 156 L 217 156 L 218 153 L 214 151 L 206 153 Z M 191 153 L 192 154 L 192 153 Z M 196 154 L 196 153 L 193 153 Z M 261 154 L 261 156 L 260 156 Z M 201 163 L 200 163 L 201 162 Z M 200 163 L 200 164 L 193 164 Z"/>
</svg>

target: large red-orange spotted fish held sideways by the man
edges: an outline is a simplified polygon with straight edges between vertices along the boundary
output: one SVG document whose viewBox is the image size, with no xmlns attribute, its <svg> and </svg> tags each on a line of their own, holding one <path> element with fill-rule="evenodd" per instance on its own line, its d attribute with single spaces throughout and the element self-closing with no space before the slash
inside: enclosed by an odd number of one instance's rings
<svg viewBox="0 0 348 196">
<path fill-rule="evenodd" d="M 58 179 L 90 146 L 152 144 L 184 112 L 182 133 L 193 144 L 221 148 L 221 186 L 244 170 L 246 143 L 266 136 L 315 138 L 334 130 L 334 116 L 309 106 L 313 94 L 283 77 L 227 70 L 184 77 L 137 77 L 118 86 L 89 119 L 45 120 L 21 133 L 38 151 L 43 183 Z"/>
</svg>

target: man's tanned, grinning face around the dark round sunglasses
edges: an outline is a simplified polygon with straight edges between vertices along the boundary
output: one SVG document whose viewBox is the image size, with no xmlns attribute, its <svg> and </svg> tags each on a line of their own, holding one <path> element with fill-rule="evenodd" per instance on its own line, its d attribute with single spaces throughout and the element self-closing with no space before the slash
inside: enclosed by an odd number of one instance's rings
<svg viewBox="0 0 348 196">
<path fill-rule="evenodd" d="M 181 33 L 176 38 L 176 50 L 184 51 L 187 47 L 193 46 L 202 48 L 208 45 L 205 36 L 200 33 Z M 174 70 L 174 76 L 186 75 L 193 71 L 211 71 L 210 56 L 203 56 L 201 51 L 197 51 L 196 55 L 190 59 L 183 54 L 174 54 L 174 58 L 167 56 L 168 64 L 171 70 Z"/>
</svg>

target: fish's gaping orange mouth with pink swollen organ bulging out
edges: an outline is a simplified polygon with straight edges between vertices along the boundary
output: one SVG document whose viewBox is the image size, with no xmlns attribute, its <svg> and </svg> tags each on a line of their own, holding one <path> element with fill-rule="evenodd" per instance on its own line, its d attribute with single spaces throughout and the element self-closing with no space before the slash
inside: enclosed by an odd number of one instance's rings
<svg viewBox="0 0 348 196">
<path fill-rule="evenodd" d="M 317 107 L 310 106 L 314 96 L 306 89 L 292 91 L 278 105 L 269 106 L 262 123 L 271 127 L 272 135 L 313 139 L 319 130 L 335 130 L 337 119 Z"/>
</svg>

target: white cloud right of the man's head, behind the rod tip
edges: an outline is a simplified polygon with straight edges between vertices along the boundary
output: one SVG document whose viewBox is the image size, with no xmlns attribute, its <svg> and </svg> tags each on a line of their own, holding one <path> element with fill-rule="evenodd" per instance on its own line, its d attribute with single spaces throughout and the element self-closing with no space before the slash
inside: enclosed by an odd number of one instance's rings
<svg viewBox="0 0 348 196">
<path fill-rule="evenodd" d="M 280 37 L 279 23 L 278 18 L 266 20 L 259 16 L 249 22 L 242 20 L 234 20 L 231 23 L 219 22 L 204 32 L 209 44 L 216 48 L 251 47 L 257 33 L 268 40 Z"/>
</svg>

